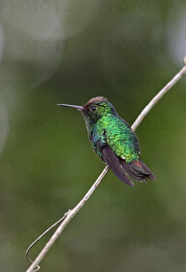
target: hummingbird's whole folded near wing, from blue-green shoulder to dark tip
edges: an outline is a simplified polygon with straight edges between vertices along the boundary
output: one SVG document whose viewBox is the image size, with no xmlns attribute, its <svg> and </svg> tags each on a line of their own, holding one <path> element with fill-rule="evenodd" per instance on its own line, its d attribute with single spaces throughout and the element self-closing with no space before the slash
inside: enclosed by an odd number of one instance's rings
<svg viewBox="0 0 186 272">
<path fill-rule="evenodd" d="M 134 182 L 131 181 L 127 175 L 127 173 L 124 172 L 124 169 L 122 165 L 120 164 L 120 161 L 118 157 L 115 155 L 115 153 L 112 151 L 110 146 L 107 143 L 104 130 L 101 128 L 95 126 L 92 133 L 92 139 L 96 147 L 98 148 L 98 151 L 101 153 L 104 161 L 107 163 L 107 165 L 110 167 L 110 169 L 113 171 L 113 173 L 123 182 L 130 186 L 134 186 Z"/>
</svg>

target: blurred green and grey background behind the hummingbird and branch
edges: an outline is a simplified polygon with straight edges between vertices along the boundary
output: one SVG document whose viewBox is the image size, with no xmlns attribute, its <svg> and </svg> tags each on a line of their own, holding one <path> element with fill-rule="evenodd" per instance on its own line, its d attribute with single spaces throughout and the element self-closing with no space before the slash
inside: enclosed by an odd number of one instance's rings
<svg viewBox="0 0 186 272">
<path fill-rule="evenodd" d="M 56 104 L 106 96 L 132 125 L 183 66 L 186 2 L 1 1 L 0 29 L 1 271 L 20 272 L 104 168 L 81 114 Z M 156 181 L 109 171 L 41 272 L 185 271 L 185 79 L 136 134 Z"/>
</svg>

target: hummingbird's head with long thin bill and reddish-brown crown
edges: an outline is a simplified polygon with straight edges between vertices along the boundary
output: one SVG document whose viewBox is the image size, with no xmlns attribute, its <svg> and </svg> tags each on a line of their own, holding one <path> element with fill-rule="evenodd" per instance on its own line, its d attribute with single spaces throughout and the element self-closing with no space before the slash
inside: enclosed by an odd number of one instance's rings
<svg viewBox="0 0 186 272">
<path fill-rule="evenodd" d="M 94 97 L 83 106 L 66 104 L 58 104 L 58 106 L 72 107 L 80 110 L 88 126 L 93 126 L 95 122 L 106 114 L 117 114 L 113 105 L 103 96 Z"/>
</svg>

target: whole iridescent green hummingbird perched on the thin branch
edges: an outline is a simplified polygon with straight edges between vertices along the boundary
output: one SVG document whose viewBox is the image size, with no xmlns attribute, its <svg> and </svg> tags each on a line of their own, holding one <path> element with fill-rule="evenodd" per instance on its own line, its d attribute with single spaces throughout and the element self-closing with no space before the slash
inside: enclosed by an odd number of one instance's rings
<svg viewBox="0 0 186 272">
<path fill-rule="evenodd" d="M 104 96 L 97 96 L 83 106 L 57 104 L 78 109 L 84 116 L 95 154 L 123 182 L 155 180 L 154 174 L 140 159 L 138 137 Z M 130 176 L 130 177 L 129 177 Z"/>
</svg>

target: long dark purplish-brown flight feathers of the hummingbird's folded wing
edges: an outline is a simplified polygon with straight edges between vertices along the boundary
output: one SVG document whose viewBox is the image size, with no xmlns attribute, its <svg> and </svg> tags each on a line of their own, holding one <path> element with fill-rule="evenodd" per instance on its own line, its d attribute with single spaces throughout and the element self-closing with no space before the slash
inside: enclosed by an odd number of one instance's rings
<svg viewBox="0 0 186 272">
<path fill-rule="evenodd" d="M 105 162 L 118 177 L 118 179 L 125 182 L 129 186 L 134 186 L 134 182 L 127 177 L 127 174 L 124 172 L 118 157 L 116 157 L 110 146 L 107 143 L 103 143 L 100 139 L 96 141 L 96 145 L 104 157 Z"/>
</svg>

